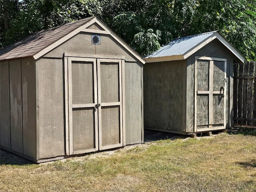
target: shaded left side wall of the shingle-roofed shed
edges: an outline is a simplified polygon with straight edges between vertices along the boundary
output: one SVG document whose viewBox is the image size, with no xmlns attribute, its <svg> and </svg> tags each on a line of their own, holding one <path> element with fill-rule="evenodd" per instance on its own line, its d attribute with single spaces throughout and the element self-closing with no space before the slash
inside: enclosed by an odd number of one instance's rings
<svg viewBox="0 0 256 192">
<path fill-rule="evenodd" d="M 1 146 L 36 159 L 36 78 L 33 58 L 2 61 Z"/>
</svg>

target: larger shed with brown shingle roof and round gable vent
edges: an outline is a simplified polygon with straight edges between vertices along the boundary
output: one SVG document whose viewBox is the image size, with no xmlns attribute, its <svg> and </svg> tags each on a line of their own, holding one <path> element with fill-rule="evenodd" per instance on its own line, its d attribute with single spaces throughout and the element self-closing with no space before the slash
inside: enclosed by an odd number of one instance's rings
<svg viewBox="0 0 256 192">
<path fill-rule="evenodd" d="M 144 142 L 144 63 L 97 17 L 7 46 L 1 148 L 45 162 Z"/>
</svg>

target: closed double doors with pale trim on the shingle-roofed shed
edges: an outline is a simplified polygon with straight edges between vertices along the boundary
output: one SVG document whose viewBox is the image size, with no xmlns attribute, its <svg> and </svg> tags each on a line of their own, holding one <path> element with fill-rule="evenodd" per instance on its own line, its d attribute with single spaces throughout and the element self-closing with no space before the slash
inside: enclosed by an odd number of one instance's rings
<svg viewBox="0 0 256 192">
<path fill-rule="evenodd" d="M 66 59 L 66 154 L 123 146 L 124 61 L 76 57 Z"/>
</svg>

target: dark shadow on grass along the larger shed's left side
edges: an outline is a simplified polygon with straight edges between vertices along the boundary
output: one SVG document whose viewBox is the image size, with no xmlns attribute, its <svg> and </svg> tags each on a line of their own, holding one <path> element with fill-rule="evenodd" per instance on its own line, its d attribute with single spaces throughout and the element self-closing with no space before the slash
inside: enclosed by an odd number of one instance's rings
<svg viewBox="0 0 256 192">
<path fill-rule="evenodd" d="M 16 154 L 0 149 L 0 165 L 30 165 L 34 162 L 22 158 Z"/>
</svg>

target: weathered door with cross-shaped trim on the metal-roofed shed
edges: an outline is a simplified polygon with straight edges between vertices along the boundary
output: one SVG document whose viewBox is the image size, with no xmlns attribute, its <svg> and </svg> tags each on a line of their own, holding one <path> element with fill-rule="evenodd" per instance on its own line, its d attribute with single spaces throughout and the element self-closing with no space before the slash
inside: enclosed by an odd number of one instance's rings
<svg viewBox="0 0 256 192">
<path fill-rule="evenodd" d="M 226 59 L 195 58 L 194 132 L 226 128 Z"/>
</svg>

